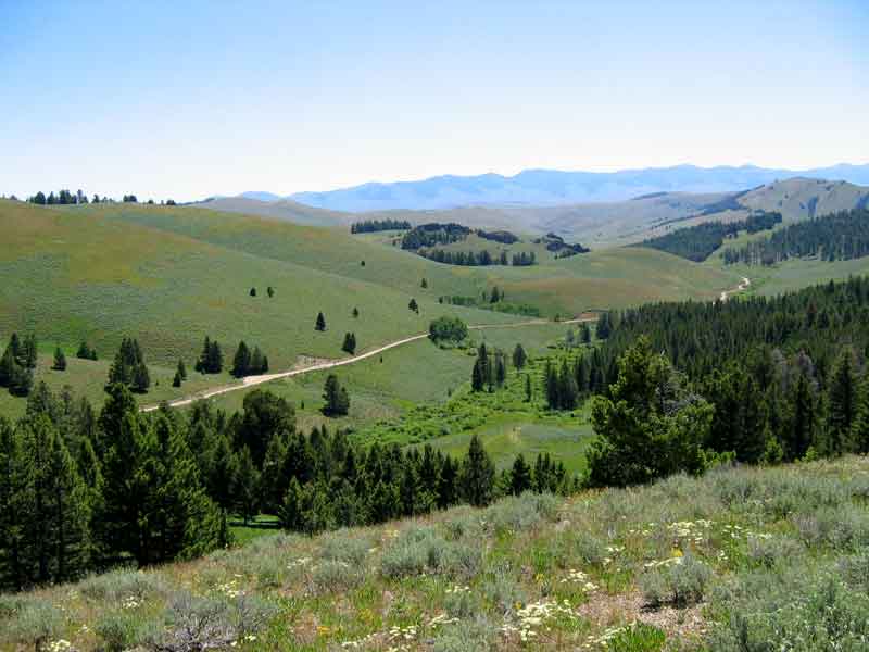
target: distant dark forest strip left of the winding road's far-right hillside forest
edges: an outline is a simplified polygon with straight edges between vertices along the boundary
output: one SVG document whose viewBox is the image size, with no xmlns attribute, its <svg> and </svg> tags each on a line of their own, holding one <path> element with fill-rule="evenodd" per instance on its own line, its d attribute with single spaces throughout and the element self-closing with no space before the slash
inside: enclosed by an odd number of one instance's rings
<svg viewBox="0 0 869 652">
<path fill-rule="evenodd" d="M 705 222 L 643 240 L 635 247 L 657 249 L 701 263 L 723 244 L 725 238 L 733 238 L 743 230 L 750 234 L 767 230 L 779 223 L 781 213 L 758 213 L 739 222 Z"/>
</svg>

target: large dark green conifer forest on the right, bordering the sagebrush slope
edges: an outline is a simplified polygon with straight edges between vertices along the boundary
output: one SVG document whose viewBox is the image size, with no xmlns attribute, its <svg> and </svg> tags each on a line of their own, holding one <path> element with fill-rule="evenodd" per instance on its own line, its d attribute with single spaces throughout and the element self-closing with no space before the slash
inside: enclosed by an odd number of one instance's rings
<svg viewBox="0 0 869 652">
<path fill-rule="evenodd" d="M 776 298 L 650 304 L 609 313 L 605 326 L 603 334 L 597 328 L 604 343 L 574 367 L 577 391 L 600 394 L 607 405 L 593 419 L 599 435 L 629 434 L 630 423 L 684 435 L 681 426 L 692 424 L 697 450 L 748 463 L 869 452 L 869 278 Z M 637 404 L 644 405 L 642 418 Z M 634 412 L 619 422 L 619 405 Z M 692 464 L 653 472 L 667 454 L 659 460 L 648 451 L 666 451 L 666 442 L 637 441 L 642 446 L 629 446 L 630 455 L 596 464 L 592 454 L 592 484 L 634 484 L 702 466 L 694 454 Z"/>
</svg>

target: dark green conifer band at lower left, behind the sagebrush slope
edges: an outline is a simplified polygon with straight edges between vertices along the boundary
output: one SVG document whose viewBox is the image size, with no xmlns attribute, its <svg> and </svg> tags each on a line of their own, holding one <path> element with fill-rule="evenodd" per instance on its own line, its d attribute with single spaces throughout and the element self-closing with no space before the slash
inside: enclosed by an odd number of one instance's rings
<svg viewBox="0 0 869 652">
<path fill-rule="evenodd" d="M 498 473 L 476 437 L 454 459 L 305 435 L 292 404 L 260 389 L 234 414 L 204 401 L 141 413 L 115 384 L 98 413 L 40 383 L 16 424 L 0 416 L 0 588 L 199 556 L 231 543 L 232 515 L 316 532 L 570 487 L 547 455 Z"/>
</svg>

